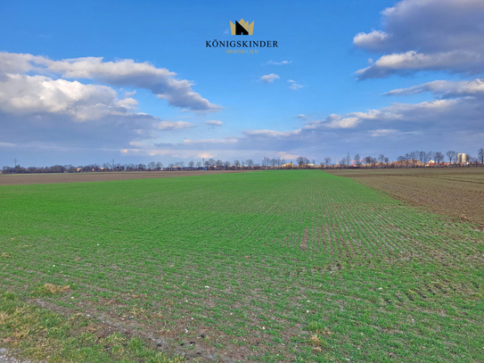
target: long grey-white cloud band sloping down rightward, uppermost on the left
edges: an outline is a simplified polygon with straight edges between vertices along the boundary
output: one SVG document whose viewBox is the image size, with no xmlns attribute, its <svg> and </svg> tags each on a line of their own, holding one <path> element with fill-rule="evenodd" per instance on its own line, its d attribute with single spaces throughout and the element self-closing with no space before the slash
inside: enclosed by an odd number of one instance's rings
<svg viewBox="0 0 484 363">
<path fill-rule="evenodd" d="M 194 83 L 177 79 L 176 73 L 156 68 L 149 62 L 130 59 L 103 62 L 103 57 L 84 57 L 53 61 L 32 54 L 0 53 L 0 73 L 28 71 L 59 74 L 62 78 L 95 79 L 112 86 L 139 87 L 152 91 L 169 104 L 189 111 L 219 111 L 221 106 L 210 103 L 193 91 Z"/>
</svg>

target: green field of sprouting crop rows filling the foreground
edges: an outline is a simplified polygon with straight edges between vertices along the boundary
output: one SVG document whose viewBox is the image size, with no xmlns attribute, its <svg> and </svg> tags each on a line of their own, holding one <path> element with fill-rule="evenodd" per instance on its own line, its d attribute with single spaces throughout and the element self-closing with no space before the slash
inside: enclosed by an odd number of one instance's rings
<svg viewBox="0 0 484 363">
<path fill-rule="evenodd" d="M 0 346 L 30 359 L 484 360 L 480 227 L 350 177 L 1 186 L 0 220 Z"/>
</svg>

